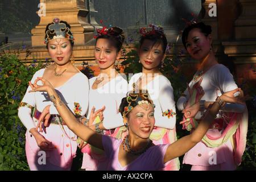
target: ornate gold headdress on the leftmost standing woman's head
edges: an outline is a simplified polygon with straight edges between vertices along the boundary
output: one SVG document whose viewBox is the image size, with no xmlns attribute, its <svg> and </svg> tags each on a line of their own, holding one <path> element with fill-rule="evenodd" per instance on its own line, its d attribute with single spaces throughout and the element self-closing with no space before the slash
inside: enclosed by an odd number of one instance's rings
<svg viewBox="0 0 256 182">
<path fill-rule="evenodd" d="M 48 28 L 49 30 L 46 31 L 46 39 L 44 40 L 45 44 L 55 39 L 75 40 L 70 28 L 68 28 L 65 23 L 60 23 L 59 18 L 53 19 L 53 24 Z"/>
</svg>

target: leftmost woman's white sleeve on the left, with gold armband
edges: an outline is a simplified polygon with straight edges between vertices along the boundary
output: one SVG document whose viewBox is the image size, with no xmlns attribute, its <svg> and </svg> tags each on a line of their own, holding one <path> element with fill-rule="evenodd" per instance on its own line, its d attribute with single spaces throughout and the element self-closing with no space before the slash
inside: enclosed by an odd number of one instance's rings
<svg viewBox="0 0 256 182">
<path fill-rule="evenodd" d="M 31 82 L 34 83 L 36 78 L 42 77 L 43 72 L 44 72 L 44 69 L 40 69 L 38 72 L 36 72 L 32 77 Z M 32 90 L 32 88 L 30 85 L 28 85 L 27 91 L 22 99 L 22 102 L 20 102 L 20 105 L 18 107 L 18 117 L 28 131 L 36 127 L 35 122 L 31 117 L 32 107 L 35 107 L 36 105 L 35 92 L 29 93 L 28 91 L 30 90 Z"/>
</svg>

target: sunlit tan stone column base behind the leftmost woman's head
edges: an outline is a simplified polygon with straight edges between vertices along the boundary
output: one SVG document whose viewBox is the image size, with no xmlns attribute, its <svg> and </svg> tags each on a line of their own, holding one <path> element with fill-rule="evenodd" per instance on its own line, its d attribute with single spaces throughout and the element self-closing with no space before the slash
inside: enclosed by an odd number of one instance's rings
<svg viewBox="0 0 256 182">
<path fill-rule="evenodd" d="M 45 16 L 40 16 L 40 23 L 31 30 L 32 47 L 45 45 L 44 31 L 55 17 L 71 25 L 76 45 L 85 44 L 93 39 L 94 27 L 87 21 L 89 11 L 85 8 L 85 0 L 40 0 L 40 3 L 45 5 L 42 6 L 45 7 Z"/>
</svg>

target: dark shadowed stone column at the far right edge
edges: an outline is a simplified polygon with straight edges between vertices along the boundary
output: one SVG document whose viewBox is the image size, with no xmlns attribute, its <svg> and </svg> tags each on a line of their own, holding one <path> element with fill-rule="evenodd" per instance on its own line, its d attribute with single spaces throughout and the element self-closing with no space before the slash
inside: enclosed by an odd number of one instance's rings
<svg viewBox="0 0 256 182">
<path fill-rule="evenodd" d="M 236 64 L 236 76 L 242 83 L 245 77 L 251 84 L 256 84 L 256 1 L 240 0 L 241 14 L 234 22 L 234 40 L 223 42 L 225 54 L 233 57 Z"/>
</svg>

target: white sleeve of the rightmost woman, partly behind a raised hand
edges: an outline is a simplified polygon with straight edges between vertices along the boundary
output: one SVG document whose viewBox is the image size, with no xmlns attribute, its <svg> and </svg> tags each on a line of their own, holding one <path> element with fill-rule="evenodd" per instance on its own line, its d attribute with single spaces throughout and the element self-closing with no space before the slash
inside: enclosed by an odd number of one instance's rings
<svg viewBox="0 0 256 182">
<path fill-rule="evenodd" d="M 233 75 L 224 65 L 220 65 L 220 67 L 215 68 L 212 74 L 210 84 L 216 86 L 216 88 L 220 90 L 220 94 L 238 88 L 236 82 L 234 81 Z M 245 106 L 241 104 L 226 103 L 224 105 L 224 111 L 242 113 L 243 110 L 245 110 Z"/>
</svg>

